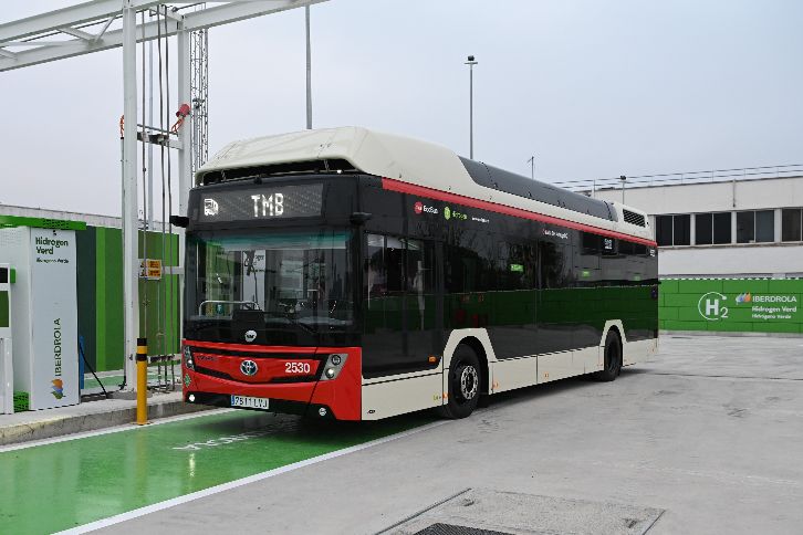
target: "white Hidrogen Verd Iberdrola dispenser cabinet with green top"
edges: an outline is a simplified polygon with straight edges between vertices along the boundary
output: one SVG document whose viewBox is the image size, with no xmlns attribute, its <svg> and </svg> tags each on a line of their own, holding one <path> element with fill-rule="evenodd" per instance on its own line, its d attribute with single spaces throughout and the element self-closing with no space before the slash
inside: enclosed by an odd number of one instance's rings
<svg viewBox="0 0 803 535">
<path fill-rule="evenodd" d="M 13 389 L 15 395 L 28 394 L 32 410 L 76 405 L 75 230 L 64 221 L 25 223 L 30 225 L 7 223 L 10 228 L 0 229 L 0 262 L 11 264 L 17 274 L 11 303 Z"/>
</svg>

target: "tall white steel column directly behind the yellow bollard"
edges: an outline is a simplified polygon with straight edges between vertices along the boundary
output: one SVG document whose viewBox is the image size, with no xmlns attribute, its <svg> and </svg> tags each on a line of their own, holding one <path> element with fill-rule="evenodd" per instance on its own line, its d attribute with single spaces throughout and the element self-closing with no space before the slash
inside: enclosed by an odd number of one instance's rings
<svg viewBox="0 0 803 535">
<path fill-rule="evenodd" d="M 136 353 L 139 335 L 139 270 L 137 240 L 137 53 L 136 9 L 123 3 L 123 317 L 125 329 L 126 390 L 136 389 Z"/>
</svg>

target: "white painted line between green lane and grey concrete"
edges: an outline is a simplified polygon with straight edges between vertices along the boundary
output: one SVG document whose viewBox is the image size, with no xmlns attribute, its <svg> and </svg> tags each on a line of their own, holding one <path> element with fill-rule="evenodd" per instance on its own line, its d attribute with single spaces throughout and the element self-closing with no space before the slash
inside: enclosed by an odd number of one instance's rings
<svg viewBox="0 0 803 535">
<path fill-rule="evenodd" d="M 372 448 L 374 445 L 380 445 L 386 442 L 390 442 L 398 439 L 404 439 L 406 437 L 410 437 L 413 434 L 427 431 L 429 429 L 444 426 L 446 423 L 451 422 L 452 420 L 441 420 L 441 421 L 435 421 L 431 423 L 427 423 L 425 426 L 409 429 L 407 431 L 401 431 L 400 433 L 390 434 L 388 437 L 383 437 L 380 439 L 372 440 L 369 442 L 365 442 L 357 445 L 351 445 L 348 448 L 343 448 L 342 450 L 335 450 L 330 453 L 324 453 L 323 455 L 313 457 L 312 459 L 305 459 L 303 461 L 298 461 L 292 464 L 286 464 L 284 466 L 279 466 L 273 470 L 269 470 L 267 472 L 249 475 L 247 478 L 241 478 L 239 480 L 230 481 L 228 483 L 221 483 L 219 485 L 210 486 L 209 489 L 204 489 L 201 491 L 196 491 L 190 494 L 185 494 L 184 496 L 177 496 L 173 497 L 170 500 L 165 500 L 164 502 L 155 503 L 153 505 L 146 505 L 144 507 L 135 508 L 134 511 L 128 511 L 127 513 L 121 513 L 118 515 L 109 516 L 108 518 L 102 518 L 100 521 L 90 522 L 88 524 L 84 524 L 76 527 L 71 527 L 70 529 L 65 529 L 63 532 L 59 532 L 58 535 L 73 535 L 73 534 L 82 534 L 82 533 L 88 533 L 93 532 L 95 529 L 101 529 L 103 527 L 113 526 L 115 524 L 119 524 L 122 522 L 126 522 L 129 520 L 138 518 L 139 516 L 145 516 L 150 513 L 156 513 L 158 511 L 164 511 L 169 507 L 174 507 L 176 505 L 181 505 L 184 503 L 192 502 L 195 500 L 199 500 L 201 497 L 211 496 L 212 494 L 218 494 L 220 492 L 230 491 L 232 489 L 237 489 L 239 486 L 248 485 L 250 483 L 255 483 L 258 481 L 265 480 L 268 478 L 272 478 L 274 475 L 280 475 L 286 472 L 292 472 L 294 470 L 302 469 L 304 466 L 310 466 L 312 464 L 316 464 L 319 462 L 328 461 L 330 459 L 335 459 L 342 455 L 347 455 L 348 453 L 354 453 L 361 450 L 365 450 L 368 448 Z"/>
</svg>

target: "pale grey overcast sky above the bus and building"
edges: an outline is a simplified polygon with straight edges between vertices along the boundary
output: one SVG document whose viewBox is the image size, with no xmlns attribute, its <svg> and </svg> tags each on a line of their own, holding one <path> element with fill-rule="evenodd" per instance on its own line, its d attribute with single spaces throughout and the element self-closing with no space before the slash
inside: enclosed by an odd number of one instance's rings
<svg viewBox="0 0 803 535">
<path fill-rule="evenodd" d="M 64 3 L 3 2 L 0 22 Z M 312 9 L 313 122 L 468 155 L 474 54 L 474 156 L 499 167 L 800 164 L 801 21 L 795 0 L 331 0 Z M 212 29 L 209 48 L 211 153 L 304 127 L 303 10 Z M 122 98 L 119 49 L 0 73 L 0 203 L 118 214 Z"/>
</svg>

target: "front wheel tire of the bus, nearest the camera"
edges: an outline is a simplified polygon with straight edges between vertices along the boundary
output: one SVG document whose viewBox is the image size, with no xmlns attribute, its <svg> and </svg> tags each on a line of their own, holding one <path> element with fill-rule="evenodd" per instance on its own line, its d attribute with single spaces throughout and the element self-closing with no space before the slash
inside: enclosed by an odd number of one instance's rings
<svg viewBox="0 0 803 535">
<path fill-rule="evenodd" d="M 460 344 L 455 349 L 449 366 L 449 392 L 447 403 L 439 407 L 440 416 L 452 420 L 466 418 L 480 400 L 480 359 L 469 346 Z"/>
</svg>

